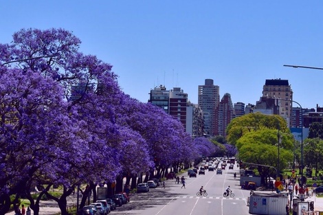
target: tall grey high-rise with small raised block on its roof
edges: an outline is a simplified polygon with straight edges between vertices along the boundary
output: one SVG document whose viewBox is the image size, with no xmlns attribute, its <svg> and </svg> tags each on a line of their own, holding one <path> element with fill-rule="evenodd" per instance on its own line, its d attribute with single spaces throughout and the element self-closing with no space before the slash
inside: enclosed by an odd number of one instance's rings
<svg viewBox="0 0 323 215">
<path fill-rule="evenodd" d="M 212 79 L 205 79 L 205 84 L 199 85 L 198 104 L 203 111 L 204 132 L 206 135 L 215 135 L 215 109 L 219 104 L 219 100 L 219 86 L 214 85 Z"/>
</svg>

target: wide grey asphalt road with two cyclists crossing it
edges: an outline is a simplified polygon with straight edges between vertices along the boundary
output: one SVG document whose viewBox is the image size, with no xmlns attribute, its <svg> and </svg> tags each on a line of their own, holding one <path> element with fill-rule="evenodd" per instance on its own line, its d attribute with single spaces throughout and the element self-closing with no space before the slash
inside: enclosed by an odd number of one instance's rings
<svg viewBox="0 0 323 215">
<path fill-rule="evenodd" d="M 223 174 L 205 171 L 205 175 L 197 175 L 197 178 L 190 178 L 187 174 L 186 188 L 174 180 L 166 181 L 166 188 L 151 189 L 147 193 L 134 194 L 131 196 L 131 203 L 118 207 L 111 214 L 118 215 L 163 215 L 163 214 L 249 214 L 247 207 L 248 190 L 241 190 L 238 177 L 234 179 L 234 170 L 223 170 Z M 238 174 L 237 174 L 238 175 Z M 208 192 L 206 197 L 197 197 L 199 188 L 203 185 Z M 223 192 L 227 185 L 230 185 L 235 196 L 224 198 Z"/>
</svg>

